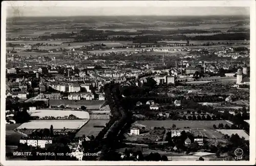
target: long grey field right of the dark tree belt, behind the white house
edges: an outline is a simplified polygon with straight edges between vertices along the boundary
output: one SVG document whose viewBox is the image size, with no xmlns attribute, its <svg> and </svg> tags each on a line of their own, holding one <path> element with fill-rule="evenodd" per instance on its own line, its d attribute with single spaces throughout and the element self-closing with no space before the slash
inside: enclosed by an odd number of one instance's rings
<svg viewBox="0 0 256 166">
<path fill-rule="evenodd" d="M 190 129 L 214 129 L 212 126 L 218 126 L 222 123 L 224 126 L 228 124 L 226 121 L 136 121 L 134 125 L 141 124 L 148 127 L 164 127 L 166 129 L 172 128 L 173 124 L 177 128 L 184 129 L 184 127 L 189 127 Z"/>
</svg>

